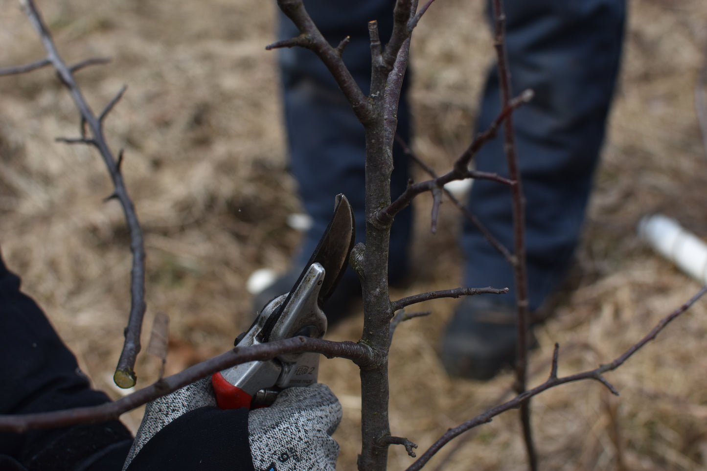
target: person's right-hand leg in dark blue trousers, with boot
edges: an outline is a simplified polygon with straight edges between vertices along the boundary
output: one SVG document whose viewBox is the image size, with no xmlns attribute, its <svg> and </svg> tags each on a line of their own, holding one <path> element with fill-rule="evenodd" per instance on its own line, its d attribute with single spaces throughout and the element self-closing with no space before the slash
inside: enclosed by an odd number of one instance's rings
<svg viewBox="0 0 707 471">
<path fill-rule="evenodd" d="M 625 14 L 621 0 L 506 1 L 506 47 L 513 93 L 526 88 L 535 93 L 532 102 L 513 115 L 526 199 L 531 311 L 540 308 L 561 284 L 580 236 L 617 79 Z M 479 131 L 489 127 L 501 109 L 498 88 L 494 69 L 481 103 Z M 508 175 L 503 133 L 499 134 L 479 152 L 477 169 Z M 513 251 L 508 187 L 477 180 L 469 209 Z M 510 293 L 494 298 L 493 303 L 513 306 L 515 286 L 510 264 L 468 222 L 464 224 L 462 245 L 467 255 L 465 284 L 508 287 Z M 450 329 L 459 332 L 457 324 L 462 322 L 464 310 L 473 310 L 474 303 L 479 301 L 469 299 L 460 306 Z M 484 331 L 477 325 L 474 329 Z M 512 338 L 515 327 L 511 331 Z M 489 334 L 484 332 L 485 337 Z M 464 368 L 473 366 L 452 358 L 463 356 L 460 351 L 464 347 L 456 345 L 461 340 L 455 342 L 452 333 L 445 337 L 448 345 L 443 350 L 452 350 L 443 351 L 445 364 L 452 373 L 464 375 Z M 507 356 L 511 360 L 515 356 L 512 348 Z"/>
</svg>

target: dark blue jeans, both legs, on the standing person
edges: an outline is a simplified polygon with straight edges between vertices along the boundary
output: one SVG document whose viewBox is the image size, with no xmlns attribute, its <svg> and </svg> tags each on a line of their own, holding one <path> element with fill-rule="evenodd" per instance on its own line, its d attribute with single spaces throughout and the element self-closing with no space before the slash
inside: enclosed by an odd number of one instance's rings
<svg viewBox="0 0 707 471">
<path fill-rule="evenodd" d="M 344 62 L 364 93 L 370 83 L 367 23 L 377 19 L 381 37 L 389 37 L 393 3 L 305 0 L 310 16 L 332 44 L 351 36 Z M 505 3 L 513 93 L 526 88 L 535 92 L 532 103 L 515 112 L 513 119 L 526 199 L 530 308 L 536 310 L 561 283 L 580 235 L 617 79 L 626 6 L 624 0 Z M 281 39 L 298 35 L 284 16 L 279 35 Z M 291 170 L 305 210 L 315 221 L 298 260 L 303 264 L 326 227 L 334 195 L 339 192 L 354 207 L 358 239 L 363 240 L 365 140 L 363 127 L 312 52 L 289 49 L 280 57 Z M 409 141 L 409 107 L 402 96 L 398 133 Z M 493 69 L 486 81 L 477 129 L 486 129 L 499 111 Z M 394 149 L 394 159 L 391 192 L 395 198 L 404 191 L 408 175 L 407 160 L 399 149 Z M 476 165 L 477 170 L 508 175 L 503 133 L 481 149 Z M 508 187 L 477 180 L 468 206 L 513 251 Z M 407 268 L 410 229 L 408 210 L 393 224 L 389 260 L 393 280 Z M 464 223 L 461 243 L 467 257 L 465 286 L 508 286 L 510 296 L 503 299 L 512 303 L 515 288 L 510 264 L 471 223 Z M 356 282 L 354 277 L 349 280 Z"/>
</svg>

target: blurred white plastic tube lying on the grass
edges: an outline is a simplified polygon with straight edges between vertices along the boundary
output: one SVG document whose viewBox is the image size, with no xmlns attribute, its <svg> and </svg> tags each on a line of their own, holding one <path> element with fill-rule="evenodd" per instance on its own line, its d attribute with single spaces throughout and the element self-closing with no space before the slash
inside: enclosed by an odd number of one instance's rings
<svg viewBox="0 0 707 471">
<path fill-rule="evenodd" d="M 707 284 L 707 245 L 677 221 L 662 214 L 643 216 L 638 236 L 683 272 Z"/>
</svg>

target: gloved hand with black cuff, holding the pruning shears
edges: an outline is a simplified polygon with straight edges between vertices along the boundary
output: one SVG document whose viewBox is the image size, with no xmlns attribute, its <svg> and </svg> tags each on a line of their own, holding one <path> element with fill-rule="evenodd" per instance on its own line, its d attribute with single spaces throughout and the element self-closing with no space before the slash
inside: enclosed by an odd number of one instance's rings
<svg viewBox="0 0 707 471">
<path fill-rule="evenodd" d="M 339 445 L 330 435 L 340 421 L 341 405 L 323 384 L 288 388 L 248 413 L 218 409 L 204 378 L 147 405 L 123 469 L 335 470 Z"/>
</svg>

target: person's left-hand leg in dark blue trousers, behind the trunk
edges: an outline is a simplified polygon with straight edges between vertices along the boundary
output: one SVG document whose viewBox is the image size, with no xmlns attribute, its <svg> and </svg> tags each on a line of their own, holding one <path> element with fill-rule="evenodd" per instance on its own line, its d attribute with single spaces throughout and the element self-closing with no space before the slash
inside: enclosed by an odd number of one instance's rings
<svg viewBox="0 0 707 471">
<path fill-rule="evenodd" d="M 390 0 L 305 1 L 310 16 L 329 42 L 337 45 L 347 35 L 351 37 L 344 51 L 344 62 L 366 94 L 370 88 L 368 21 L 378 20 L 380 36 L 390 37 L 393 4 Z M 281 13 L 279 24 L 279 39 L 299 34 Z M 314 53 L 299 47 L 281 50 L 280 66 L 291 170 L 298 181 L 305 211 L 313 219 L 312 228 L 306 234 L 293 266 L 293 271 L 298 272 L 322 236 L 332 216 L 334 196 L 338 193 L 344 193 L 349 199 L 356 217 L 356 241 L 363 241 L 366 234 L 366 140 L 351 106 Z M 407 141 L 409 112 L 405 93 L 402 95 L 398 133 Z M 397 197 L 407 186 L 407 161 L 399 149 L 394 155 L 396 170 L 391 192 Z M 390 277 L 394 280 L 404 274 L 410 226 L 409 209 L 396 216 L 390 243 Z M 285 289 L 289 288 L 291 286 Z M 337 291 L 346 298 L 356 289 L 358 279 L 349 269 Z M 336 317 L 336 313 L 328 314 L 330 318 Z"/>
</svg>

